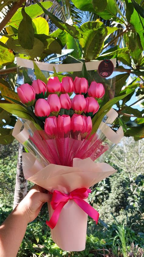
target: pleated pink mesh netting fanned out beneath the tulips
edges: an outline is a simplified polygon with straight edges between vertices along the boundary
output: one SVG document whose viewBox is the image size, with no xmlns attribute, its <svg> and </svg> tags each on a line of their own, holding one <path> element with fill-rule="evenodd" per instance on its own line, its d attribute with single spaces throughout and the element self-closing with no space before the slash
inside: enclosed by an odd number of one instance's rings
<svg viewBox="0 0 144 257">
<path fill-rule="evenodd" d="M 54 136 L 49 136 L 44 130 L 37 130 L 33 137 L 29 136 L 43 156 L 53 164 L 72 166 L 73 158 L 90 157 L 95 161 L 108 150 L 108 145 L 103 144 L 97 134 L 82 134 L 80 131 L 72 130 L 64 133 L 60 128 L 55 128 L 53 132 Z"/>
</svg>

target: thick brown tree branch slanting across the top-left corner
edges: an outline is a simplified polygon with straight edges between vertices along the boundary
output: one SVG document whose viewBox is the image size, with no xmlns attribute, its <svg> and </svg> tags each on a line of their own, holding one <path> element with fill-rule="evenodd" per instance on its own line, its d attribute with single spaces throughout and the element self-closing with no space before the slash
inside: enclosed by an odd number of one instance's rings
<svg viewBox="0 0 144 257">
<path fill-rule="evenodd" d="M 25 2 L 25 0 L 20 0 L 19 3 L 15 2 L 12 5 L 12 8 L 9 10 L 9 12 L 7 13 L 7 15 L 4 17 L 4 19 L 1 21 L 0 23 L 0 31 L 3 30 L 3 28 L 6 26 L 6 24 L 9 22 L 9 20 L 12 18 L 12 16 L 15 14 L 15 12 L 17 11 L 17 9 L 19 9 L 19 7 L 21 7 L 22 3 Z"/>
</svg>

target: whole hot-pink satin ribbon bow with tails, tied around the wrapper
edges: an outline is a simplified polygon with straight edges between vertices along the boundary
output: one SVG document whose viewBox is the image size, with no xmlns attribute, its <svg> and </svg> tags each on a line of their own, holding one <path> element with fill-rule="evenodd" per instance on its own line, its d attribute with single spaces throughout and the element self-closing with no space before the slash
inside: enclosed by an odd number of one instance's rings
<svg viewBox="0 0 144 257">
<path fill-rule="evenodd" d="M 99 213 L 91 205 L 89 205 L 86 201 L 83 200 L 88 197 L 88 193 L 91 193 L 91 190 L 85 187 L 76 189 L 72 191 L 70 194 L 63 194 L 58 190 L 54 190 L 51 201 L 51 206 L 54 212 L 50 220 L 46 221 L 47 226 L 49 226 L 51 229 L 53 229 L 56 226 L 62 208 L 69 200 L 74 200 L 75 203 L 92 219 L 94 219 L 97 224 Z"/>
</svg>

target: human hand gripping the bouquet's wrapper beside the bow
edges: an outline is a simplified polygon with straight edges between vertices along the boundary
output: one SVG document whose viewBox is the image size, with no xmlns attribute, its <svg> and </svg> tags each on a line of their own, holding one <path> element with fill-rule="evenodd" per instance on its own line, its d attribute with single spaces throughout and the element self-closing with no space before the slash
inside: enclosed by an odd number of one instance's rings
<svg viewBox="0 0 144 257">
<path fill-rule="evenodd" d="M 47 194 L 47 190 L 35 184 L 16 208 L 29 223 L 36 219 L 44 203 L 50 200 L 51 195 Z"/>
</svg>

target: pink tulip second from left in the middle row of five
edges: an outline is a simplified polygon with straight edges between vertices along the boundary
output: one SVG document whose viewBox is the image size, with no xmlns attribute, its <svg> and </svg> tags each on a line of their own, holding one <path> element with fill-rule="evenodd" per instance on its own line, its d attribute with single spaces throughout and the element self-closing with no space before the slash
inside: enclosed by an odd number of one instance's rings
<svg viewBox="0 0 144 257">
<path fill-rule="evenodd" d="M 50 105 L 50 111 L 53 115 L 57 116 L 60 112 L 61 104 L 60 98 L 56 94 L 51 94 L 47 98 L 47 102 Z"/>
</svg>

